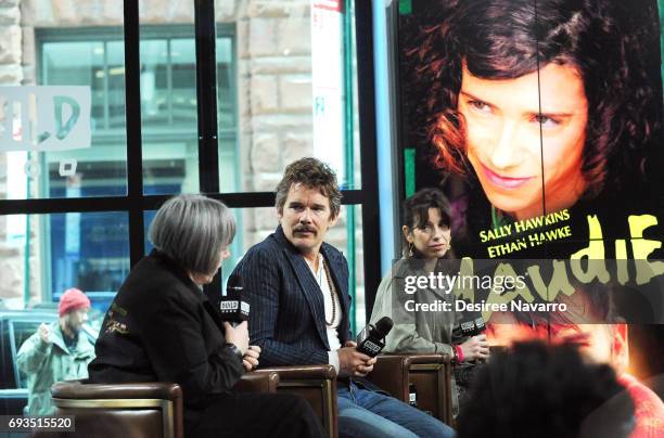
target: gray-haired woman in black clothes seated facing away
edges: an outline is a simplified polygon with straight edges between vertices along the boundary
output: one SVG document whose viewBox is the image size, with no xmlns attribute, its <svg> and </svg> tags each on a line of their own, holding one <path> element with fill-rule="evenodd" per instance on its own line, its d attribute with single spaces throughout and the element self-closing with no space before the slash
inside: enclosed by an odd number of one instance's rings
<svg viewBox="0 0 664 438">
<path fill-rule="evenodd" d="M 201 195 L 167 201 L 150 227 L 152 253 L 120 286 L 97 339 L 92 383 L 176 382 L 187 436 L 318 437 L 309 404 L 290 395 L 235 394 L 260 349 L 247 323 L 233 327 L 203 294 L 235 234 L 222 203 Z"/>
</svg>

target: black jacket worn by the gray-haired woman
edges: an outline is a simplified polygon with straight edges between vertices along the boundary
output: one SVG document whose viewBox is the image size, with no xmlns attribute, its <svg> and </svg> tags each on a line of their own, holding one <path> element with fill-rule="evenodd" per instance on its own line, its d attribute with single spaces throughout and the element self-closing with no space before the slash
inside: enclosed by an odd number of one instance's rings
<svg viewBox="0 0 664 438">
<path fill-rule="evenodd" d="M 174 261 L 152 252 L 120 286 L 89 365 L 93 383 L 176 382 L 186 421 L 243 374 L 224 325 L 203 292 Z"/>
</svg>

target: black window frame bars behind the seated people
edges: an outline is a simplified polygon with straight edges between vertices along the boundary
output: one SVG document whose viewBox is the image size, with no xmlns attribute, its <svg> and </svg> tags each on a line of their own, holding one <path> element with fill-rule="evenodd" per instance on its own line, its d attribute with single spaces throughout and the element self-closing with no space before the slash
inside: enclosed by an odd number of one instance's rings
<svg viewBox="0 0 664 438">
<path fill-rule="evenodd" d="M 373 79 L 373 24 L 371 2 L 349 1 L 346 8 L 355 9 L 355 35 L 358 89 L 358 119 L 360 138 L 360 189 L 342 190 L 342 204 L 361 205 L 366 317 L 369 319 L 375 291 L 381 281 L 380 230 L 378 201 L 378 157 L 375 136 L 375 104 Z M 349 11 L 345 10 L 344 14 Z M 215 22 L 214 2 L 194 0 L 194 33 L 196 48 L 196 96 L 199 136 L 200 192 L 222 201 L 230 208 L 271 207 L 273 192 L 221 192 L 219 188 L 219 151 L 217 125 L 216 38 L 219 27 Z M 0 199 L 2 215 L 34 215 L 54 212 L 126 211 L 129 216 L 129 259 L 133 267 L 144 256 L 145 210 L 158 209 L 170 195 L 143 193 L 142 126 L 140 101 L 140 25 L 139 1 L 124 0 L 125 44 L 125 111 L 127 133 L 127 193 L 124 196 L 77 198 Z M 37 30 L 37 29 L 36 29 Z M 94 39 L 100 38 L 99 27 Z M 232 29 L 234 31 L 234 29 Z M 77 29 L 74 37 L 91 28 Z M 42 34 L 41 36 L 47 35 Z M 62 40 L 62 39 L 61 39 Z M 48 38 L 42 41 L 48 41 Z M 233 39 L 233 44 L 235 40 Z M 235 63 L 237 64 L 237 63 Z M 237 65 L 235 65 L 237 68 Z M 233 79 L 235 80 L 235 79 Z M 237 85 L 235 85 L 237 86 Z M 213 92 L 210 92 L 210 90 Z M 235 99 L 235 98 L 233 98 Z M 368 250 L 367 250 L 368 249 Z M 220 275 L 207 291 L 219 291 Z"/>
</svg>

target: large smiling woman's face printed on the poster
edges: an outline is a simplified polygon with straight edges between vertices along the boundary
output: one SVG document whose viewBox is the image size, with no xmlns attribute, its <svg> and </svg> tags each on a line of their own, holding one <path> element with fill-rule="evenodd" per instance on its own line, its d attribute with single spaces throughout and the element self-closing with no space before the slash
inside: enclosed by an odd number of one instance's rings
<svg viewBox="0 0 664 438">
<path fill-rule="evenodd" d="M 458 111 L 468 158 L 489 202 L 516 219 L 572 206 L 582 173 L 588 101 L 570 65 L 515 79 L 483 79 L 463 65 Z M 542 190 L 544 189 L 544 190 Z"/>
</svg>

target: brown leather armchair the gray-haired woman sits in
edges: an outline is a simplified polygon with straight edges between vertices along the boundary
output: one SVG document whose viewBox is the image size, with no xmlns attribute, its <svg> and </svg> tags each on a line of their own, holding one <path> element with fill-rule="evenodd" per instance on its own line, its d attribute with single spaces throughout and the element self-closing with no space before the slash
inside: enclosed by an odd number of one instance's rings
<svg viewBox="0 0 664 438">
<path fill-rule="evenodd" d="M 247 373 L 233 389 L 276 392 L 278 384 L 277 373 Z M 76 416 L 76 431 L 68 437 L 183 437 L 182 389 L 177 384 L 69 381 L 54 384 L 51 395 L 56 414 Z"/>
</svg>

